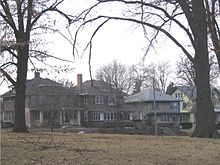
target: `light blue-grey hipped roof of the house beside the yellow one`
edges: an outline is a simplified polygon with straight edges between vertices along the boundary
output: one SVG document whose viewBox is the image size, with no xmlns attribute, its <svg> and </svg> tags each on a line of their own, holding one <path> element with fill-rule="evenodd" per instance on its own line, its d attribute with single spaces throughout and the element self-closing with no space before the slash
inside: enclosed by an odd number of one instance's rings
<svg viewBox="0 0 220 165">
<path fill-rule="evenodd" d="M 139 93 L 136 93 L 132 96 L 129 96 L 125 102 L 132 103 L 132 102 L 152 102 L 154 101 L 154 90 L 153 89 L 146 89 Z M 177 98 L 174 98 L 166 93 L 161 93 L 155 91 L 155 101 L 159 102 L 172 102 L 172 101 L 180 101 Z"/>
</svg>

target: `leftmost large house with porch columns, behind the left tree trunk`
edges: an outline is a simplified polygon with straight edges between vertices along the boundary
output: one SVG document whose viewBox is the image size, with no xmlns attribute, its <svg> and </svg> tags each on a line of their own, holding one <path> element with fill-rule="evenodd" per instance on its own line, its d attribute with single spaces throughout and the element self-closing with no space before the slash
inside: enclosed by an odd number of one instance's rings
<svg viewBox="0 0 220 165">
<path fill-rule="evenodd" d="M 14 121 L 15 90 L 11 89 L 3 98 L 3 122 Z M 25 118 L 29 127 L 53 124 L 81 125 L 82 105 L 79 95 L 50 79 L 35 77 L 26 82 Z"/>
</svg>

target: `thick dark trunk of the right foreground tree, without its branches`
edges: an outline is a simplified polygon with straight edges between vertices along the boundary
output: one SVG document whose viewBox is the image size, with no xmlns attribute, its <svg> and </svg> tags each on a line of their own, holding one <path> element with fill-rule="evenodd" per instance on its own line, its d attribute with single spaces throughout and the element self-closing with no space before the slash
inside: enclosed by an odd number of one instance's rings
<svg viewBox="0 0 220 165">
<path fill-rule="evenodd" d="M 205 8 L 203 1 L 192 1 L 192 11 L 194 20 L 194 41 L 195 58 L 194 65 L 196 70 L 196 128 L 193 137 L 216 137 L 214 106 L 211 101 L 209 84 L 209 58 L 207 43 L 207 25 Z"/>
</svg>

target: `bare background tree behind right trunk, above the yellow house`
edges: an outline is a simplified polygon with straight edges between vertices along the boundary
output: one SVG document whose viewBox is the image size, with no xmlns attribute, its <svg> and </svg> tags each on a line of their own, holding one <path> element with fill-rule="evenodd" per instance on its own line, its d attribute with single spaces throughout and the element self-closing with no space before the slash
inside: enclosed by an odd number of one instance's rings
<svg viewBox="0 0 220 165">
<path fill-rule="evenodd" d="M 210 84 L 214 86 L 219 78 L 218 65 L 215 62 L 215 56 L 211 56 L 209 59 L 210 64 Z M 176 75 L 181 84 L 195 86 L 195 69 L 193 64 L 184 56 L 180 57 L 180 61 L 176 63 Z"/>
</svg>

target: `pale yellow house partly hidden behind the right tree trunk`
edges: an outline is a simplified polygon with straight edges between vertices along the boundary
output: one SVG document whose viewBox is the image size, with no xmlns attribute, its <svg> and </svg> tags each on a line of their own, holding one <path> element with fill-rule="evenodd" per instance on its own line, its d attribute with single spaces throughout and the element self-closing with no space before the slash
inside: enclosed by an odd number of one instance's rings
<svg viewBox="0 0 220 165">
<path fill-rule="evenodd" d="M 195 128 L 196 124 L 196 88 L 192 86 L 173 86 L 167 91 L 180 101 L 180 123 L 183 128 Z M 211 88 L 212 101 L 216 112 L 216 123 L 220 123 L 220 92 L 217 88 Z"/>
</svg>

